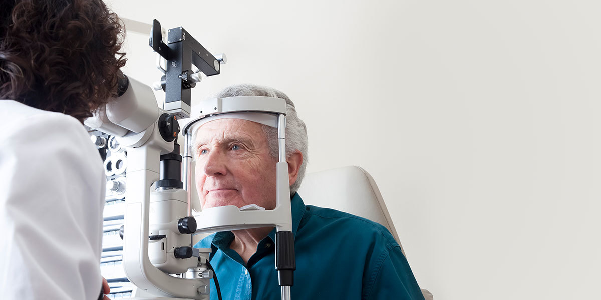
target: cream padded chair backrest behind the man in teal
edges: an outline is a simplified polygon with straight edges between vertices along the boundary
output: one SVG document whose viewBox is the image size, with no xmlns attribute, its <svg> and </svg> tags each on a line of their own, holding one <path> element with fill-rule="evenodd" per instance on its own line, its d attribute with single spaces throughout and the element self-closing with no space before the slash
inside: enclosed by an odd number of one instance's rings
<svg viewBox="0 0 601 300">
<path fill-rule="evenodd" d="M 308 173 L 298 193 L 306 205 L 332 208 L 382 224 L 401 245 L 382 194 L 364 169 L 352 166 Z M 401 251 L 404 255 L 402 245 Z M 432 293 L 421 292 L 426 300 L 433 300 Z"/>
</svg>

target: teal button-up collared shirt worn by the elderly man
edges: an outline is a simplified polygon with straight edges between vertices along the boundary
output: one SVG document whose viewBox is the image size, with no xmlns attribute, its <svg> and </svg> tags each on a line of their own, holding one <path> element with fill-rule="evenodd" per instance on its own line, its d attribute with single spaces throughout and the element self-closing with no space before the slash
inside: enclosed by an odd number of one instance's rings
<svg viewBox="0 0 601 300">
<path fill-rule="evenodd" d="M 291 200 L 296 271 L 291 298 L 423 300 L 401 247 L 380 224 L 334 209 Z M 275 270 L 275 233 L 244 263 L 230 249 L 231 232 L 207 236 L 194 247 L 212 248 L 211 265 L 224 300 L 281 299 Z M 211 280 L 211 300 L 217 300 Z"/>
</svg>

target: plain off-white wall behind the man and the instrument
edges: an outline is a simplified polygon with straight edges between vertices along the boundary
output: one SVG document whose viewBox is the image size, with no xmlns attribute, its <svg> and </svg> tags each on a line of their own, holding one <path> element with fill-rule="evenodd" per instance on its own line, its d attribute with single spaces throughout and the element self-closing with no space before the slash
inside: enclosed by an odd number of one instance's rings
<svg viewBox="0 0 601 300">
<path fill-rule="evenodd" d="M 193 104 L 287 93 L 308 171 L 373 175 L 435 299 L 599 297 L 599 1 L 108 3 L 227 53 Z M 147 38 L 127 43 L 129 73 L 156 81 Z"/>
</svg>

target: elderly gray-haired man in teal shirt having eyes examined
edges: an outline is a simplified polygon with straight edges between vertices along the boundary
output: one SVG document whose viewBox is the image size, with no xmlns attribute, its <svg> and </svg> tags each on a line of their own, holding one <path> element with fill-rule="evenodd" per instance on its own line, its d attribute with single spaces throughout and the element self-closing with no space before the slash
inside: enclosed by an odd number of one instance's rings
<svg viewBox="0 0 601 300">
<path fill-rule="evenodd" d="M 282 92 L 238 85 L 217 97 L 286 100 L 286 155 L 296 251 L 293 299 L 424 299 L 400 246 L 380 224 L 305 206 L 296 193 L 307 166 L 307 129 Z M 276 205 L 277 130 L 242 119 L 201 125 L 194 139 L 196 184 L 203 208 Z M 280 299 L 273 227 L 219 232 L 195 247 L 212 248 L 223 299 Z M 212 283 L 211 299 L 218 299 Z"/>
</svg>

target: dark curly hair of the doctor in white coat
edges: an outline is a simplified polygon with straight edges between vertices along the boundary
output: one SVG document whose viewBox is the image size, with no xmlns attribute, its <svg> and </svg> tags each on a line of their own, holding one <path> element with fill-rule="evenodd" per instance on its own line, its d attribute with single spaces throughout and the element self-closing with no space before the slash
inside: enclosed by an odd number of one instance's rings
<svg viewBox="0 0 601 300">
<path fill-rule="evenodd" d="M 0 99 L 83 122 L 117 92 L 123 27 L 102 0 L 1 0 Z"/>
</svg>

